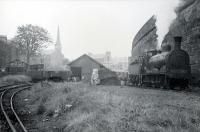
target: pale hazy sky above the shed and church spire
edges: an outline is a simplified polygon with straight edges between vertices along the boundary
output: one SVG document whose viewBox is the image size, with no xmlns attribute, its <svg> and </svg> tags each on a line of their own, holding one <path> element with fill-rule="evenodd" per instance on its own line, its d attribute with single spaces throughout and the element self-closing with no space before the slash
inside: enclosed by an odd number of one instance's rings
<svg viewBox="0 0 200 132">
<path fill-rule="evenodd" d="M 62 52 L 70 60 L 85 53 L 111 51 L 128 57 L 134 36 L 157 17 L 159 44 L 176 17 L 178 0 L 0 0 L 0 35 L 14 37 L 17 27 L 38 25 L 54 44 L 60 27 Z"/>
</svg>

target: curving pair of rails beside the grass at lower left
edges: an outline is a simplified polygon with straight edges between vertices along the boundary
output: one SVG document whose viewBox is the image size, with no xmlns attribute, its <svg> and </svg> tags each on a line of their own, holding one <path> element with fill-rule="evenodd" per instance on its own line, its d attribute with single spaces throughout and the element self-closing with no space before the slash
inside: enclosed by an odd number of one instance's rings
<svg viewBox="0 0 200 132">
<path fill-rule="evenodd" d="M 1 120 L 3 118 L 5 130 L 11 132 L 27 132 L 14 109 L 14 97 L 17 93 L 30 88 L 30 84 L 15 84 L 0 87 Z"/>
</svg>

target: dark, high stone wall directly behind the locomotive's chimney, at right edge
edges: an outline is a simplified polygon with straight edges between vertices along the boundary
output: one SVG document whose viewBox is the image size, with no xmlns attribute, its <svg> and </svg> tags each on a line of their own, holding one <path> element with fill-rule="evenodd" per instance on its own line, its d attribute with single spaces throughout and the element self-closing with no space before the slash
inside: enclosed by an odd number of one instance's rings
<svg viewBox="0 0 200 132">
<path fill-rule="evenodd" d="M 200 1 L 196 0 L 177 12 L 177 18 L 171 24 L 162 46 L 174 47 L 173 36 L 182 36 L 182 49 L 190 55 L 192 74 L 200 75 Z"/>
</svg>

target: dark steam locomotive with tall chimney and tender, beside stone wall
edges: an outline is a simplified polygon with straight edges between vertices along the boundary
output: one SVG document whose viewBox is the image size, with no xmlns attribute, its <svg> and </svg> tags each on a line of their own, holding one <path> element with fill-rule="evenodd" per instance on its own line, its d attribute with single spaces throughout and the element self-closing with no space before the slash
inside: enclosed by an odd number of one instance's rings
<svg viewBox="0 0 200 132">
<path fill-rule="evenodd" d="M 182 37 L 174 37 L 175 46 L 167 45 L 162 51 L 147 51 L 131 62 L 129 81 L 133 85 L 145 85 L 185 89 L 189 85 L 191 67 L 189 55 L 181 49 Z"/>
</svg>

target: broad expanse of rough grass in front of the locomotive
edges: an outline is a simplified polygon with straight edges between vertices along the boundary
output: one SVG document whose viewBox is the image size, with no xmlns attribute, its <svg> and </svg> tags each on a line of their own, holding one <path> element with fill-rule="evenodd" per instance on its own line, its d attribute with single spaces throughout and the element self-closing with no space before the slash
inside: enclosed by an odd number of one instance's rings
<svg viewBox="0 0 200 132">
<path fill-rule="evenodd" d="M 200 98 L 191 94 L 83 83 L 44 83 L 23 93 L 41 131 L 197 132 Z M 41 120 L 48 119 L 48 121 Z M 48 127 L 47 127 L 48 126 Z"/>
</svg>

